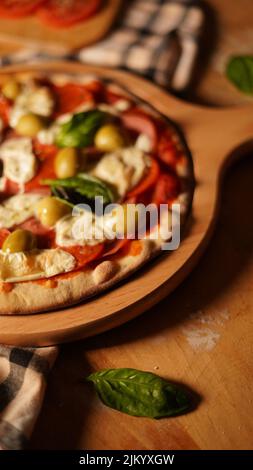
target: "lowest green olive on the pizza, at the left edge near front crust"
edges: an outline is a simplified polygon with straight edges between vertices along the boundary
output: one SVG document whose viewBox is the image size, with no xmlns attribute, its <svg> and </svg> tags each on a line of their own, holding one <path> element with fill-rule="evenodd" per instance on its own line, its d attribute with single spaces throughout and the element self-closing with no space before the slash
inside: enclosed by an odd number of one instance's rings
<svg viewBox="0 0 253 470">
<path fill-rule="evenodd" d="M 29 230 L 17 229 L 5 239 L 2 250 L 5 253 L 31 251 L 37 247 L 36 237 Z"/>
</svg>

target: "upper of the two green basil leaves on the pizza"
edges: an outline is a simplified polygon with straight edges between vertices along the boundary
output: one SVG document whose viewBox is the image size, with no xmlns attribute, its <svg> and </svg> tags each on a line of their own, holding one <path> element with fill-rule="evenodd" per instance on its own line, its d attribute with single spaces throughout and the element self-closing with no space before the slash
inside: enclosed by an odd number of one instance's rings
<svg viewBox="0 0 253 470">
<path fill-rule="evenodd" d="M 106 114 L 98 109 L 77 113 L 61 125 L 56 137 L 58 147 L 88 147 L 93 144 L 98 128 Z"/>
</svg>

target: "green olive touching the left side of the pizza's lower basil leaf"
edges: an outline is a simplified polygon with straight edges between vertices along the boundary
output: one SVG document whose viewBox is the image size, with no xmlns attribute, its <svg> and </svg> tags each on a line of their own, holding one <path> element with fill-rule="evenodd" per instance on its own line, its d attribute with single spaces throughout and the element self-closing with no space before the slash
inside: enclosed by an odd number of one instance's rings
<svg viewBox="0 0 253 470">
<path fill-rule="evenodd" d="M 41 199 L 36 206 L 36 215 L 46 227 L 53 227 L 59 219 L 71 211 L 71 206 L 51 196 Z"/>
</svg>

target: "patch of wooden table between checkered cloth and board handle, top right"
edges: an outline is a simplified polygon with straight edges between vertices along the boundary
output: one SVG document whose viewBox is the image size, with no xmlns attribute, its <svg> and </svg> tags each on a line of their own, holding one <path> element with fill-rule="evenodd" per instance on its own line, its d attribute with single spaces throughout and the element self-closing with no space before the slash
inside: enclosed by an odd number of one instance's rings
<svg viewBox="0 0 253 470">
<path fill-rule="evenodd" d="M 230 106 L 252 103 L 226 78 L 233 55 L 252 55 L 252 0 L 204 0 L 205 32 L 191 89 L 187 99 L 205 105 Z"/>
</svg>

